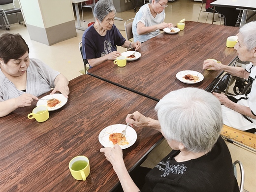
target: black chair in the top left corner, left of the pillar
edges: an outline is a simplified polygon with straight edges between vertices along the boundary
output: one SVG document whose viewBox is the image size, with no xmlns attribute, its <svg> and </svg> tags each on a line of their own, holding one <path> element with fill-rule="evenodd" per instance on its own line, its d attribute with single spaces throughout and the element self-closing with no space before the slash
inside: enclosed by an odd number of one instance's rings
<svg viewBox="0 0 256 192">
<path fill-rule="evenodd" d="M 19 21 L 19 19 L 18 19 L 17 13 L 21 13 L 21 9 L 15 7 L 15 4 L 14 4 L 13 0 L 0 0 L 0 5 L 7 5 L 7 4 L 11 4 L 11 3 L 13 4 L 13 8 L 10 8 L 10 9 L 0 9 L 0 16 L 3 18 L 6 30 L 10 30 L 10 24 L 9 24 L 7 15 L 12 15 L 12 14 L 16 14 L 18 23 L 20 25 L 23 25 L 23 26 L 26 27 L 26 24 L 21 23 Z"/>
</svg>

